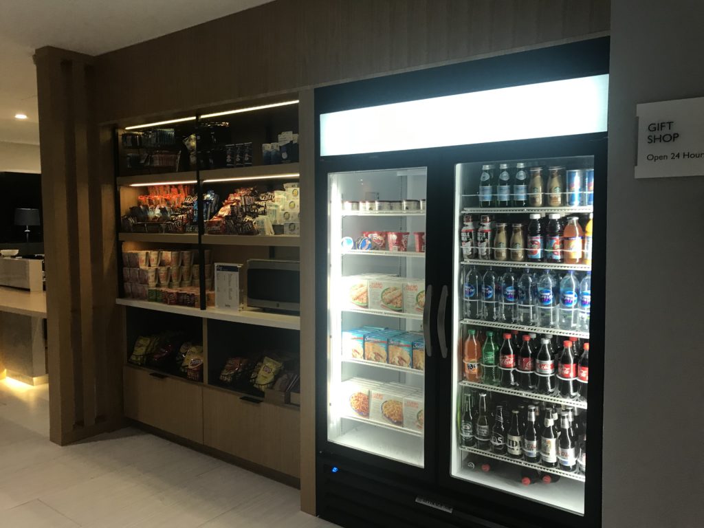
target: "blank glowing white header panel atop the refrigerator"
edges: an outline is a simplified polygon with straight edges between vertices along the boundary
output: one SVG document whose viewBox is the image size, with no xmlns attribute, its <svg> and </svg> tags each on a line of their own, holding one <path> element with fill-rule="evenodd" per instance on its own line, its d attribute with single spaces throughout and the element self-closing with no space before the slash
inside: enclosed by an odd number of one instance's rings
<svg viewBox="0 0 704 528">
<path fill-rule="evenodd" d="M 320 155 L 428 149 L 607 130 L 608 75 L 320 115 Z"/>
</svg>

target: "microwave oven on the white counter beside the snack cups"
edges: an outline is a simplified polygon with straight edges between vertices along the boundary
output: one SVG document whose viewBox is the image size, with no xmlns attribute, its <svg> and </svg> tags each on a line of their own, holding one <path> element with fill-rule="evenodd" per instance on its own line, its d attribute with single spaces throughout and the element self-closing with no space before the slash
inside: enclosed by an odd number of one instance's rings
<svg viewBox="0 0 704 528">
<path fill-rule="evenodd" d="M 298 260 L 247 260 L 247 306 L 299 312 L 301 272 Z"/>
</svg>

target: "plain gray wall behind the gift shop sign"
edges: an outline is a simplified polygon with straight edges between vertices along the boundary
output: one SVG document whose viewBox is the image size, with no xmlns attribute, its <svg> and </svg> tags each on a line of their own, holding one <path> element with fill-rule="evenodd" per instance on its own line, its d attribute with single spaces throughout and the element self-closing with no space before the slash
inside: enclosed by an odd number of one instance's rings
<svg viewBox="0 0 704 528">
<path fill-rule="evenodd" d="M 611 17 L 603 526 L 701 527 L 704 176 L 634 180 L 634 159 L 636 103 L 704 96 L 704 2 Z"/>
</svg>

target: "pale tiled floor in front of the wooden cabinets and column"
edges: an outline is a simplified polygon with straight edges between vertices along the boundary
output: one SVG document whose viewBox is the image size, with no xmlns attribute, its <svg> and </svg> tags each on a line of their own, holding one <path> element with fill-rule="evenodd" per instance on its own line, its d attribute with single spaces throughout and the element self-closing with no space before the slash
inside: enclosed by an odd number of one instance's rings
<svg viewBox="0 0 704 528">
<path fill-rule="evenodd" d="M 0 526 L 323 528 L 298 490 L 188 448 L 122 429 L 49 441 L 46 386 L 0 381 Z"/>
</svg>

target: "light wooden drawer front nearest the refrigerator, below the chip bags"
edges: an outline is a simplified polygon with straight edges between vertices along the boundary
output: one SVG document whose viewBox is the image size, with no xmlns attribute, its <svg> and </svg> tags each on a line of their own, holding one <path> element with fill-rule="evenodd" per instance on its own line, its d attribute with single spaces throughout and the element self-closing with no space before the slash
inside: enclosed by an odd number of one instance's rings
<svg viewBox="0 0 704 528">
<path fill-rule="evenodd" d="M 203 387 L 203 443 L 272 470 L 300 477 L 300 411 L 253 403 Z"/>
</svg>

